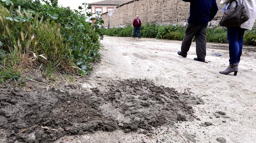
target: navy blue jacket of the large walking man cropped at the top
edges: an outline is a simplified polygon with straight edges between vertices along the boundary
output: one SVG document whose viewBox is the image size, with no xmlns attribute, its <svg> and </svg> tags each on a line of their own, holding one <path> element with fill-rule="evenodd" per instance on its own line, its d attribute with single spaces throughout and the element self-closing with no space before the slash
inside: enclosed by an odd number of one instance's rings
<svg viewBox="0 0 256 143">
<path fill-rule="evenodd" d="M 188 23 L 206 24 L 218 12 L 216 0 L 183 0 L 190 2 L 190 17 Z"/>
</svg>

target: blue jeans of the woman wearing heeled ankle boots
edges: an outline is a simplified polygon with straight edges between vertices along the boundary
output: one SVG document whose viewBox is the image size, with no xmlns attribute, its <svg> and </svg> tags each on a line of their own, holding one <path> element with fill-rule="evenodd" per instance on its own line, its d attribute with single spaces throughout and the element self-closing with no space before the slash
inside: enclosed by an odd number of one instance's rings
<svg viewBox="0 0 256 143">
<path fill-rule="evenodd" d="M 245 29 L 237 27 L 227 28 L 227 41 L 229 42 L 229 63 L 236 64 L 240 62 L 242 55 L 242 46 L 244 44 Z"/>
</svg>

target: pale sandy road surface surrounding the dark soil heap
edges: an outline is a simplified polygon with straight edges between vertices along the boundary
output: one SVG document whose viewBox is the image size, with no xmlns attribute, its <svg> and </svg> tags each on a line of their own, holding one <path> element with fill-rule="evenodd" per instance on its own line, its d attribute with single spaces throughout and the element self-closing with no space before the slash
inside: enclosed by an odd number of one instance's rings
<svg viewBox="0 0 256 143">
<path fill-rule="evenodd" d="M 195 115 L 201 121 L 177 123 L 178 134 L 171 130 L 165 131 L 166 126 L 159 127 L 156 130 L 165 132 L 155 139 L 148 139 L 138 132 L 127 134 L 117 130 L 70 136 L 71 142 L 155 143 L 158 140 L 165 143 L 188 143 L 190 141 L 183 136 L 184 132 L 194 134 L 198 143 L 216 143 L 217 137 L 224 137 L 227 143 L 256 142 L 256 52 L 246 50 L 250 47 L 245 47 L 239 73 L 233 76 L 219 74 L 228 64 L 227 44 L 208 43 L 207 64 L 193 60 L 196 57 L 195 43 L 187 58 L 176 54 L 181 41 L 105 36 L 102 43 L 105 46 L 105 50 L 101 51 L 102 60 L 95 66 L 91 79 L 107 81 L 147 78 L 157 85 L 174 87 L 178 91 L 188 89 L 205 102 L 204 105 L 193 105 Z M 212 55 L 216 52 L 223 56 Z M 101 78 L 97 79 L 96 76 Z M 216 111 L 224 111 L 231 118 L 216 118 L 213 115 Z M 213 119 L 209 119 L 210 116 Z M 202 122 L 212 122 L 213 126 L 200 126 Z"/>
</svg>

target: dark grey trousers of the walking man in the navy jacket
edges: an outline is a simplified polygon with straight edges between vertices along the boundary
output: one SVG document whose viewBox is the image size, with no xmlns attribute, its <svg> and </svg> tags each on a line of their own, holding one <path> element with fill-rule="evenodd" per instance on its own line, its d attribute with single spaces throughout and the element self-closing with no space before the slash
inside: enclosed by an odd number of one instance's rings
<svg viewBox="0 0 256 143">
<path fill-rule="evenodd" d="M 186 29 L 186 33 L 181 45 L 181 53 L 187 55 L 190 49 L 192 40 L 196 36 L 196 55 L 199 59 L 205 59 L 206 57 L 206 29 L 207 24 L 193 24 L 189 23 Z"/>
</svg>

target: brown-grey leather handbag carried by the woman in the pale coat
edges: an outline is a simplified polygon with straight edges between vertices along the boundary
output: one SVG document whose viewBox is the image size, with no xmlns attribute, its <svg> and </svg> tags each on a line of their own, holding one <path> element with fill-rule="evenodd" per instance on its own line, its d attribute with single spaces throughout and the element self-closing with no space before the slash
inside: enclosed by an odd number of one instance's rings
<svg viewBox="0 0 256 143">
<path fill-rule="evenodd" d="M 236 2 L 236 6 L 231 8 L 233 2 Z M 219 22 L 219 25 L 229 28 L 240 26 L 248 21 L 249 16 L 243 3 L 244 1 L 242 1 L 242 4 L 238 5 L 237 0 L 231 0 L 229 2 L 229 6 L 223 13 L 223 17 Z"/>
</svg>

